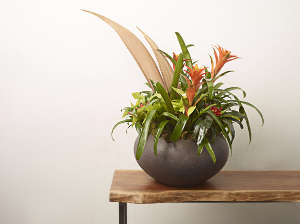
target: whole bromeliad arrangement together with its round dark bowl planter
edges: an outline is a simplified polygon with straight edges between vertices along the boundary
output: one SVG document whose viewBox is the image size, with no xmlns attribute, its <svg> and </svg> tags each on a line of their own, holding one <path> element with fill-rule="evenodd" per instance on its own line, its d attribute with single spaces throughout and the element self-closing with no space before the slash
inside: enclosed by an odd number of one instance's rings
<svg viewBox="0 0 300 224">
<path fill-rule="evenodd" d="M 222 89 L 220 78 L 233 72 L 221 72 L 223 65 L 238 59 L 231 51 L 213 46 L 210 67 L 199 66 L 188 51 L 194 45 L 186 45 L 178 32 L 182 52 L 170 56 L 140 30 L 155 54 L 159 70 L 132 32 L 102 15 L 92 14 L 117 31 L 146 77 L 150 90 L 133 92 L 136 102 L 122 109 L 123 120 L 114 126 L 112 137 L 119 124 L 135 127 L 135 158 L 154 179 L 171 186 L 192 186 L 217 174 L 232 150 L 234 123 L 243 129 L 245 120 L 251 141 L 244 105 L 253 107 L 264 123 L 254 105 L 232 93 L 240 88 Z M 245 91 L 241 91 L 245 98 Z"/>
</svg>

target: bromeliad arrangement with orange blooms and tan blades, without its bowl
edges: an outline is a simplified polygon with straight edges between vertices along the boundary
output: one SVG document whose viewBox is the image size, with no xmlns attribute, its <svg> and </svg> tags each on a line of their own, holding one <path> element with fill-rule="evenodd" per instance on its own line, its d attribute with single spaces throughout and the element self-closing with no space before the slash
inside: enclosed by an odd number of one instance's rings
<svg viewBox="0 0 300 224">
<path fill-rule="evenodd" d="M 150 37 L 140 30 L 156 56 L 159 72 L 146 47 L 132 32 L 102 15 L 92 14 L 100 17 L 117 31 L 141 68 L 148 81 L 146 84 L 151 89 L 133 92 L 136 103 L 122 109 L 124 119 L 112 130 L 113 134 L 114 129 L 121 123 L 127 123 L 128 128 L 135 127 L 140 135 L 136 151 L 137 160 L 143 154 L 148 135 L 152 134 L 153 151 L 156 156 L 160 137 L 172 142 L 176 142 L 179 138 L 192 139 L 198 145 L 198 155 L 205 147 L 216 163 L 212 145 L 217 135 L 222 134 L 232 149 L 235 136 L 233 123 L 237 123 L 243 129 L 242 121 L 245 120 L 251 141 L 250 123 L 244 105 L 253 107 L 264 124 L 262 113 L 254 105 L 239 100 L 232 93 L 232 90 L 241 90 L 240 88 L 221 89 L 223 83 L 216 83 L 220 77 L 233 72 L 220 73 L 226 62 L 238 59 L 231 51 L 224 50 L 219 45 L 213 46 L 215 59 L 209 55 L 211 67 L 199 66 L 197 61 L 192 60 L 188 51 L 188 48 L 194 45 L 185 45 L 178 32 L 176 36 L 182 52 L 179 55 L 173 53 L 171 57 L 159 50 Z M 167 59 L 172 63 L 173 69 Z M 245 98 L 245 91 L 241 91 Z"/>
</svg>

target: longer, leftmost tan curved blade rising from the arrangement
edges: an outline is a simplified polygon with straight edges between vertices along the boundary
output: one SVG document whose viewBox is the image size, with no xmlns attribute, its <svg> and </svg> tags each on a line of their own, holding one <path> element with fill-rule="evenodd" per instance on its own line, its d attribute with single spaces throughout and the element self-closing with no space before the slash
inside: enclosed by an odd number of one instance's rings
<svg viewBox="0 0 300 224">
<path fill-rule="evenodd" d="M 97 13 L 93 13 L 87 10 L 83 10 L 83 11 L 98 16 L 100 19 L 102 19 L 104 22 L 110 25 L 117 32 L 117 34 L 120 36 L 120 38 L 126 45 L 127 49 L 132 54 L 134 60 L 142 70 L 153 92 L 154 89 L 152 87 L 150 80 L 164 84 L 163 78 L 160 75 L 159 70 L 153 58 L 151 57 L 149 51 L 131 31 L 127 30 L 125 27 L 122 27 L 116 22 L 104 17 L 103 15 L 99 15 Z"/>
</svg>

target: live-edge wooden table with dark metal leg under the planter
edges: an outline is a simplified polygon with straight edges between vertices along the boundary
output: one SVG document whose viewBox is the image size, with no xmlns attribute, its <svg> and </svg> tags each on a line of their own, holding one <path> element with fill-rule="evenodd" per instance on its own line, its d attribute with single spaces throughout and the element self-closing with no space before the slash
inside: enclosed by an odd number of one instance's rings
<svg viewBox="0 0 300 224">
<path fill-rule="evenodd" d="M 300 202 L 300 171 L 220 171 L 194 187 L 170 187 L 143 170 L 116 170 L 109 201 L 119 203 L 119 224 L 127 204 L 164 202 Z"/>
</svg>

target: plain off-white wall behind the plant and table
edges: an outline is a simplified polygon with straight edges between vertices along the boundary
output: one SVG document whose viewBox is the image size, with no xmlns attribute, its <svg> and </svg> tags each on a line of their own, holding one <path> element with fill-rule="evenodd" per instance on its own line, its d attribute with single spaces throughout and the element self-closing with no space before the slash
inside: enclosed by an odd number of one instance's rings
<svg viewBox="0 0 300 224">
<path fill-rule="evenodd" d="M 145 43 L 139 26 L 169 53 L 179 31 L 207 66 L 211 44 L 242 57 L 223 82 L 246 90 L 265 126 L 249 108 L 252 143 L 237 129 L 224 169 L 300 170 L 299 1 L 1 0 L 0 224 L 115 224 L 113 172 L 139 168 L 135 131 L 118 127 L 116 142 L 110 132 L 144 77 L 115 31 L 81 8 Z M 130 224 L 299 220 L 297 203 L 128 205 Z"/>
</svg>

